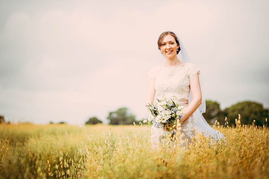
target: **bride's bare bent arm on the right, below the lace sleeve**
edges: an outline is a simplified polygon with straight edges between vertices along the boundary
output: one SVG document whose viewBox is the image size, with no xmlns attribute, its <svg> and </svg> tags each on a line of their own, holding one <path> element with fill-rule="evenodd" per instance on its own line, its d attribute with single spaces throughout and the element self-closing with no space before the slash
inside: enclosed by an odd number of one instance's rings
<svg viewBox="0 0 269 179">
<path fill-rule="evenodd" d="M 192 102 L 185 108 L 183 116 L 179 122 L 185 121 L 202 103 L 202 92 L 198 73 L 189 77 L 189 85 L 192 92 Z"/>
</svg>

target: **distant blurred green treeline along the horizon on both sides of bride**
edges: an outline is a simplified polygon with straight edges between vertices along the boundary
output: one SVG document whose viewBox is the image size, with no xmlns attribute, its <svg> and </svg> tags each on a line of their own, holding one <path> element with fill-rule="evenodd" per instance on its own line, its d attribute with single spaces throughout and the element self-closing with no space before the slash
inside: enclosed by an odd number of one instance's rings
<svg viewBox="0 0 269 179">
<path fill-rule="evenodd" d="M 225 117 L 227 117 L 229 125 L 232 125 L 235 124 L 235 119 L 238 119 L 239 114 L 241 115 L 241 124 L 252 124 L 255 120 L 254 124 L 262 126 L 267 124 L 266 118 L 269 118 L 269 110 L 264 109 L 262 104 L 253 101 L 239 102 L 221 110 L 217 101 L 206 100 L 206 112 L 203 113 L 203 116 L 208 124 L 214 124 L 217 120 L 220 125 L 225 124 Z M 107 119 L 111 125 L 138 124 L 142 121 L 137 121 L 135 115 L 130 114 L 125 107 L 109 112 Z M 102 121 L 97 117 L 91 117 L 85 124 L 99 123 L 102 123 Z"/>
</svg>

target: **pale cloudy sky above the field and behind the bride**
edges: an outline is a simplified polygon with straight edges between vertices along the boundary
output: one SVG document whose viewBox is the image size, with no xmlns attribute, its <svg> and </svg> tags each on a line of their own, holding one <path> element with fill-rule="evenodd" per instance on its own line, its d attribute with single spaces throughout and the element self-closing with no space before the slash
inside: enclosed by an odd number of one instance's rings
<svg viewBox="0 0 269 179">
<path fill-rule="evenodd" d="M 146 73 L 165 58 L 164 31 L 183 41 L 221 109 L 269 107 L 269 1 L 0 1 L 0 115 L 80 125 L 127 107 L 146 116 Z"/>
</svg>

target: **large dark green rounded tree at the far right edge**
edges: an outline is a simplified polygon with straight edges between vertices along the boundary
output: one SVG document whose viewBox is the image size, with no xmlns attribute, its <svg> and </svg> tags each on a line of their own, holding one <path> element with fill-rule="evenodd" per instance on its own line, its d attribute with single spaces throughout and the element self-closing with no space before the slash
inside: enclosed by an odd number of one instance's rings
<svg viewBox="0 0 269 179">
<path fill-rule="evenodd" d="M 265 118 L 268 118 L 269 110 L 264 109 L 262 104 L 253 101 L 243 101 L 234 104 L 224 109 L 227 115 L 228 122 L 235 124 L 235 119 L 238 119 L 238 114 L 241 115 L 241 124 L 254 124 L 262 126 L 265 123 Z"/>
</svg>

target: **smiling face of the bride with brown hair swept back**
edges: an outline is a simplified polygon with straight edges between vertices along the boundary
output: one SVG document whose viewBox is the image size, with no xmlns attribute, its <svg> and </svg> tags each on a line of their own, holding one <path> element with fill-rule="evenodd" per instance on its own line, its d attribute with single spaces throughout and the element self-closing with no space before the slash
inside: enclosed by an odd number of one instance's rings
<svg viewBox="0 0 269 179">
<path fill-rule="evenodd" d="M 168 34 L 163 38 L 160 50 L 166 58 L 173 58 L 177 55 L 178 47 L 175 38 Z"/>
</svg>

